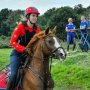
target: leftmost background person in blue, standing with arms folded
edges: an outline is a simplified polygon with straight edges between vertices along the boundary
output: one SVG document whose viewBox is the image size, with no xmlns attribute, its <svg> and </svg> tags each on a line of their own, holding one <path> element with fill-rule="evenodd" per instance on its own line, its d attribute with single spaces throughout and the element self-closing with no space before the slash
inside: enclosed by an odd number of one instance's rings
<svg viewBox="0 0 90 90">
<path fill-rule="evenodd" d="M 68 24 L 66 25 L 67 32 L 67 51 L 69 51 L 69 45 L 73 44 L 73 51 L 75 49 L 75 25 L 73 24 L 72 18 L 68 19 Z"/>
</svg>

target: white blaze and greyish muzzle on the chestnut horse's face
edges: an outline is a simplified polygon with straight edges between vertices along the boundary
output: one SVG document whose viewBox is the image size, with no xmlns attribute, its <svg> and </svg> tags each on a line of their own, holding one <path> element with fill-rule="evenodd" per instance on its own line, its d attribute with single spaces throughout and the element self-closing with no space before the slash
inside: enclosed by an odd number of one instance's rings
<svg viewBox="0 0 90 90">
<path fill-rule="evenodd" d="M 63 48 L 61 48 L 59 42 L 57 41 L 56 37 L 53 37 L 54 41 L 55 41 L 55 47 L 57 49 L 57 51 L 55 52 L 55 55 L 58 59 L 60 60 L 64 60 L 66 58 L 66 53 L 64 51 Z"/>
</svg>

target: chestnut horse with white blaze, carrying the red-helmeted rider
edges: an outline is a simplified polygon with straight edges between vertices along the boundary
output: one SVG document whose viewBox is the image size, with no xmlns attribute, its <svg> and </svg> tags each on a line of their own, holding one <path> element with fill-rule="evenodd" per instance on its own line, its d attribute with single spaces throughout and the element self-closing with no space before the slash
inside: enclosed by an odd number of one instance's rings
<svg viewBox="0 0 90 90">
<path fill-rule="evenodd" d="M 64 60 L 66 53 L 55 37 L 56 27 L 35 34 L 28 43 L 31 62 L 22 81 L 22 90 L 53 90 L 54 81 L 49 70 L 49 56 Z"/>
</svg>

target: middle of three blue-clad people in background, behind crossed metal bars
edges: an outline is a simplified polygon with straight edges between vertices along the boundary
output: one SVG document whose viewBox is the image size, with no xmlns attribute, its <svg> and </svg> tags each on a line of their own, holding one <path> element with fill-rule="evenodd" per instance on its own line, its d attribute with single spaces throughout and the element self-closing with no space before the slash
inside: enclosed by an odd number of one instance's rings
<svg viewBox="0 0 90 90">
<path fill-rule="evenodd" d="M 80 36 L 81 36 L 81 44 L 79 45 L 82 51 L 88 51 L 88 41 L 87 41 L 87 22 L 85 16 L 81 16 L 80 23 Z"/>
</svg>

